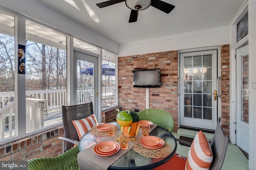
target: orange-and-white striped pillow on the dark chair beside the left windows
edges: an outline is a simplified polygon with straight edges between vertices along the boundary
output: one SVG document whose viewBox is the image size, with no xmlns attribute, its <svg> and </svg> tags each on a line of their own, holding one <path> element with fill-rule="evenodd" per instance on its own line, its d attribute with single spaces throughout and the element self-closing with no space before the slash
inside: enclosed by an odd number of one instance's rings
<svg viewBox="0 0 256 170">
<path fill-rule="evenodd" d="M 92 127 L 98 126 L 95 114 L 80 120 L 72 120 L 72 123 L 76 127 L 79 139 L 81 139 L 84 133 L 88 132 Z"/>
</svg>

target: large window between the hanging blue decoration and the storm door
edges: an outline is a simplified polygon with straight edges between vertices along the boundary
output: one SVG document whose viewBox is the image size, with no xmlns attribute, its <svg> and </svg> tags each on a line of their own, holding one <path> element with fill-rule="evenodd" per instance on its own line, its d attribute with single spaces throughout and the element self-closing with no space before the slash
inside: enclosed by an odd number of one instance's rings
<svg viewBox="0 0 256 170">
<path fill-rule="evenodd" d="M 26 21 L 26 40 L 26 130 L 32 131 L 62 121 L 66 36 Z"/>
</svg>

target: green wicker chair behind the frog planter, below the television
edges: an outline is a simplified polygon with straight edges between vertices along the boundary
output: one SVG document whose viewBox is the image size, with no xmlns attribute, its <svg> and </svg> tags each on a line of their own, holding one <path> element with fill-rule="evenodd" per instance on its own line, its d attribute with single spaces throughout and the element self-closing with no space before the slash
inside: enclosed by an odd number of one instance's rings
<svg viewBox="0 0 256 170">
<path fill-rule="evenodd" d="M 161 109 L 144 109 L 138 113 L 140 120 L 152 121 L 154 124 L 168 129 L 172 133 L 174 129 L 174 119 L 168 111 Z"/>
</svg>

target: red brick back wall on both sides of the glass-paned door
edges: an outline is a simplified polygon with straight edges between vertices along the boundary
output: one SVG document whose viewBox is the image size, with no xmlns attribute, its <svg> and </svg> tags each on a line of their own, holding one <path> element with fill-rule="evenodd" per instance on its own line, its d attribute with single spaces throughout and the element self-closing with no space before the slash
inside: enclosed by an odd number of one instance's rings
<svg viewBox="0 0 256 170">
<path fill-rule="evenodd" d="M 119 106 L 125 109 L 146 108 L 146 89 L 134 88 L 132 70 L 146 68 L 161 69 L 161 88 L 150 88 L 149 107 L 170 112 L 175 121 L 174 131 L 178 129 L 178 52 L 168 51 L 118 58 L 118 95 Z M 221 47 L 221 118 L 226 135 L 230 134 L 230 49 L 229 45 Z M 136 103 L 136 105 L 133 103 Z"/>
</svg>

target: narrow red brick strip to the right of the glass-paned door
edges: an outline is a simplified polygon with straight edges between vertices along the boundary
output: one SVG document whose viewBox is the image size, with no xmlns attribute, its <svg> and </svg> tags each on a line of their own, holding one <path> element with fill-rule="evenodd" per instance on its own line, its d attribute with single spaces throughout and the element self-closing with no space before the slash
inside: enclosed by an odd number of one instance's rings
<svg viewBox="0 0 256 170">
<path fill-rule="evenodd" d="M 226 135 L 230 135 L 230 46 L 221 47 L 221 124 Z"/>
</svg>

